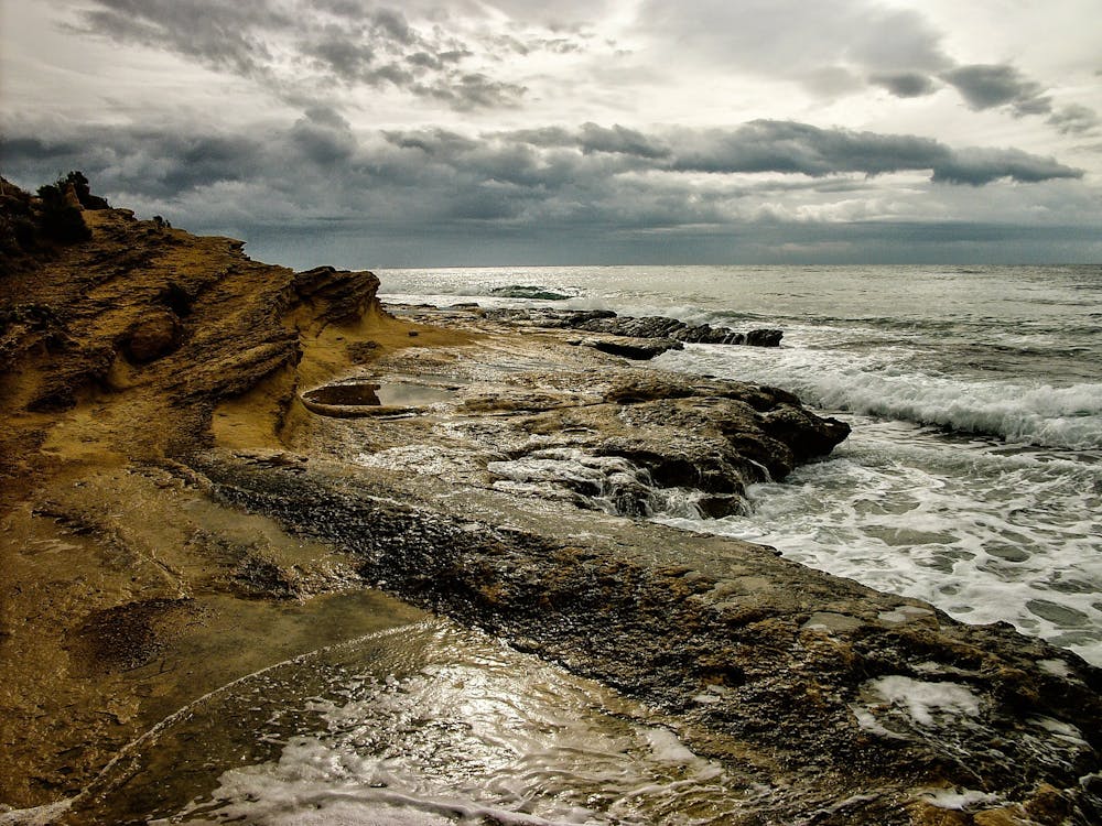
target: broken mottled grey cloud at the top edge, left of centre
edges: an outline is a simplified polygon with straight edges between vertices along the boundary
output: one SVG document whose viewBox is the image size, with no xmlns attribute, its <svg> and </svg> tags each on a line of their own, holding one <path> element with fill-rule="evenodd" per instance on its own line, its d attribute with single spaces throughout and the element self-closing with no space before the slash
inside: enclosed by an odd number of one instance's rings
<svg viewBox="0 0 1102 826">
<path fill-rule="evenodd" d="M 397 4 L 356 0 L 89 4 L 80 17 L 83 33 L 164 50 L 259 81 L 295 104 L 332 101 L 339 89 L 357 86 L 397 87 L 469 111 L 515 107 L 526 94 L 522 84 L 488 68 L 498 48 L 493 35 L 477 25 L 441 25 L 440 12 L 437 19 L 413 20 Z M 514 40 L 525 53 L 581 47 L 577 37 L 548 36 L 548 30 Z"/>
</svg>

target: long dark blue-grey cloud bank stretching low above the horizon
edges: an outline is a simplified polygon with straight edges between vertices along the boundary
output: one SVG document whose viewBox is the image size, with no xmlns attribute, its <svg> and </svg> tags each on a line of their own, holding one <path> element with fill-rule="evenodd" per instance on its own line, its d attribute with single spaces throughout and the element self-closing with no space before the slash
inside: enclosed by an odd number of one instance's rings
<svg viewBox="0 0 1102 826">
<path fill-rule="evenodd" d="M 80 169 L 112 203 L 145 215 L 250 240 L 309 230 L 317 249 L 342 227 L 386 249 L 431 237 L 550 250 L 557 236 L 571 250 L 575 239 L 606 251 L 619 239 L 626 246 L 616 254 L 637 254 L 625 239 L 688 244 L 703 237 L 704 248 L 719 249 L 716 239 L 749 226 L 787 228 L 808 242 L 820 232 L 815 242 L 828 243 L 831 232 L 852 235 L 876 215 L 880 196 L 894 197 L 866 176 L 917 172 L 933 182 L 921 186 L 944 184 L 968 198 L 969 186 L 948 185 L 1080 174 L 1016 150 L 957 150 L 790 121 L 660 134 L 587 123 L 473 138 L 446 129 L 357 133 L 338 112 L 315 107 L 285 128 L 248 135 L 198 124 L 58 131 L 25 122 L 7 123 L 3 135 L 6 175 L 26 186 Z"/>
</svg>

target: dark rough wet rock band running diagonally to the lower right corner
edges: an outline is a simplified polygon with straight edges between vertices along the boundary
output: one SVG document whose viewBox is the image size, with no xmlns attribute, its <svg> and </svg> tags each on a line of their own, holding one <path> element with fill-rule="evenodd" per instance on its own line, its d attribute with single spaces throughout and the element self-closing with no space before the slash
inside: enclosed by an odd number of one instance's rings
<svg viewBox="0 0 1102 826">
<path fill-rule="evenodd" d="M 1008 805 L 1055 793 L 1073 823 L 1102 812 L 1080 783 L 1098 769 L 1100 674 L 1009 627 L 660 525 L 614 520 L 571 541 L 551 533 L 559 517 L 539 532 L 412 491 L 397 504 L 324 463 L 191 463 L 225 502 L 349 551 L 403 599 L 681 715 L 699 753 L 774 789 L 764 822 L 819 806 L 835 811 L 823 823 L 910 823 L 947 786 Z M 1052 659 L 1063 675 L 1037 667 Z"/>
</svg>

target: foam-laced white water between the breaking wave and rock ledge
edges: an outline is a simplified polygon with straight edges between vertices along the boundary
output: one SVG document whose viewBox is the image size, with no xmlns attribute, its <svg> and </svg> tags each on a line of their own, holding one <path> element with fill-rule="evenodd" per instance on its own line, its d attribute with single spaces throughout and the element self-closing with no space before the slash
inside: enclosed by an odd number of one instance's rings
<svg viewBox="0 0 1102 826">
<path fill-rule="evenodd" d="M 851 417 L 831 457 L 750 486 L 750 512 L 663 519 L 1102 664 L 1102 464 Z"/>
</svg>

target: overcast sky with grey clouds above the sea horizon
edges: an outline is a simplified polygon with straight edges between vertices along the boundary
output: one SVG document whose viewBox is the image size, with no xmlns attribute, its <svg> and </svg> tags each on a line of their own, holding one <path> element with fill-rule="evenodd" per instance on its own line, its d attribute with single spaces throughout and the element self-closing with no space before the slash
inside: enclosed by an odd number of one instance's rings
<svg viewBox="0 0 1102 826">
<path fill-rule="evenodd" d="M 1102 262 L 1099 0 L 0 0 L 0 174 L 295 268 Z"/>
</svg>

